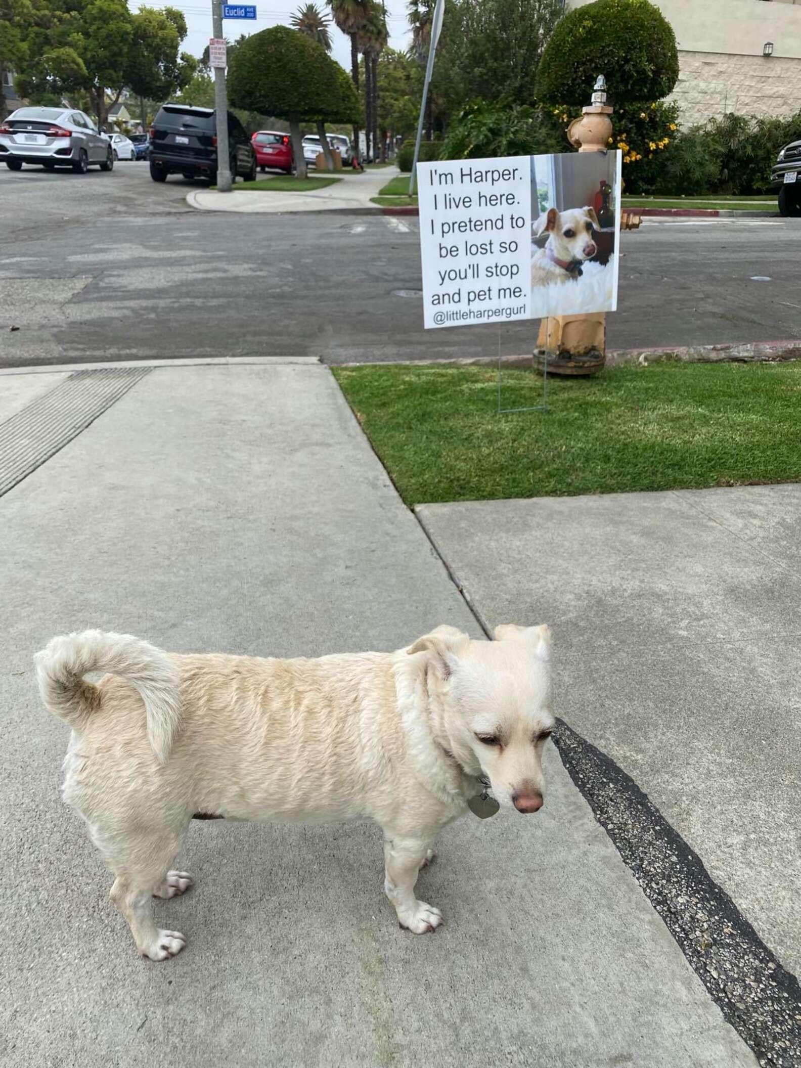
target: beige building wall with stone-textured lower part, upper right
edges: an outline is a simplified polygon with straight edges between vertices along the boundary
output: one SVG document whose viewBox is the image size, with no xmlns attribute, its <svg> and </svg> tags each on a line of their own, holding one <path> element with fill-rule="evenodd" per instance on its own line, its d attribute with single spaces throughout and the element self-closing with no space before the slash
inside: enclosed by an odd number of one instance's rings
<svg viewBox="0 0 801 1068">
<path fill-rule="evenodd" d="M 568 2 L 580 7 L 590 0 Z M 670 98 L 678 101 L 684 125 L 727 111 L 789 115 L 801 109 L 801 0 L 654 2 L 676 34 L 679 78 Z"/>
</svg>

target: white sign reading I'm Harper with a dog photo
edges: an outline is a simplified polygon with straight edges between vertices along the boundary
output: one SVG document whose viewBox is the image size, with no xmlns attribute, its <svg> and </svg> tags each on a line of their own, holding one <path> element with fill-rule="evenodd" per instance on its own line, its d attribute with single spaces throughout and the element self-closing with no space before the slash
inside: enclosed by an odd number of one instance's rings
<svg viewBox="0 0 801 1068">
<path fill-rule="evenodd" d="M 418 172 L 426 328 L 614 311 L 619 152 Z"/>
</svg>

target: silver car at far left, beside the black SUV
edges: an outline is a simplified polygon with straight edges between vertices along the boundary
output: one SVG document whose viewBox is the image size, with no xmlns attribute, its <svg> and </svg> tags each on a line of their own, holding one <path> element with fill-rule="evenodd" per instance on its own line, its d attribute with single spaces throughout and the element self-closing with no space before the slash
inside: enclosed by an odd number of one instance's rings
<svg viewBox="0 0 801 1068">
<path fill-rule="evenodd" d="M 110 171 L 114 154 L 108 138 L 82 111 L 17 108 L 0 125 L 0 161 L 11 171 L 32 163 L 48 171 L 70 167 L 76 174 L 85 174 L 92 166 Z"/>
</svg>

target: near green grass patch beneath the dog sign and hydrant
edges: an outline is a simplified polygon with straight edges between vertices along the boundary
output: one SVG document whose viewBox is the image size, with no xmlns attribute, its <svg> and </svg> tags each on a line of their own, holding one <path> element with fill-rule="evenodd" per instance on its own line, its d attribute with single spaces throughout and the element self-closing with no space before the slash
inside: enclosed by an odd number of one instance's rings
<svg viewBox="0 0 801 1068">
<path fill-rule="evenodd" d="M 497 413 L 494 367 L 334 375 L 407 504 L 801 480 L 801 363 L 626 365 Z M 541 379 L 503 372 L 503 406 Z"/>
</svg>

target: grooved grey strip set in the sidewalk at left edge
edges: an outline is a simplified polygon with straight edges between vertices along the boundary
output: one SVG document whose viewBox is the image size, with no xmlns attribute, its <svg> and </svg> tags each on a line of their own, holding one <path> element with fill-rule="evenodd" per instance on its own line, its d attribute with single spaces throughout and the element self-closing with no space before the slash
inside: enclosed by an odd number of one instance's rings
<svg viewBox="0 0 801 1068">
<path fill-rule="evenodd" d="M 68 444 L 151 370 L 76 371 L 0 423 L 0 496 Z"/>
</svg>

